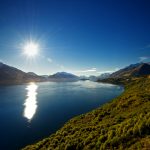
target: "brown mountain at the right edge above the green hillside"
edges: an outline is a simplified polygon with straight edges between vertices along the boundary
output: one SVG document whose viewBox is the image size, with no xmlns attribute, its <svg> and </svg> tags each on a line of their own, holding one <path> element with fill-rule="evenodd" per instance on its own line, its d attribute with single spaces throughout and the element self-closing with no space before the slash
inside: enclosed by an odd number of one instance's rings
<svg viewBox="0 0 150 150">
<path fill-rule="evenodd" d="M 110 75 L 110 78 L 126 78 L 150 75 L 150 63 L 137 63 Z"/>
</svg>

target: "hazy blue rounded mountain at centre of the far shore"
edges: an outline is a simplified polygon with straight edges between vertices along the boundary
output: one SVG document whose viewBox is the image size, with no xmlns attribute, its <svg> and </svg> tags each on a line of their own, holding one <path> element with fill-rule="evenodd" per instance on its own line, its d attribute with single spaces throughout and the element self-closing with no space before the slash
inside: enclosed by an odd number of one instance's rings
<svg viewBox="0 0 150 150">
<path fill-rule="evenodd" d="M 67 72 L 57 72 L 53 75 L 50 75 L 49 80 L 50 81 L 77 81 L 79 80 L 79 77 Z"/>
</svg>

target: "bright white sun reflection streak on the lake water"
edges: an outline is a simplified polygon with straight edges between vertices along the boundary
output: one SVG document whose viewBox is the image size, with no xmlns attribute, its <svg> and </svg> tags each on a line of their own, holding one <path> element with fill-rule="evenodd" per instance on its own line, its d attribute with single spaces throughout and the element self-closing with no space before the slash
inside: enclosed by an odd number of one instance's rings
<svg viewBox="0 0 150 150">
<path fill-rule="evenodd" d="M 26 87 L 27 99 L 25 100 L 25 103 L 23 104 L 25 106 L 23 115 L 29 121 L 31 121 L 34 114 L 36 113 L 36 109 L 37 109 L 37 101 L 36 101 L 37 89 L 38 89 L 38 86 L 35 83 L 30 83 Z"/>
</svg>

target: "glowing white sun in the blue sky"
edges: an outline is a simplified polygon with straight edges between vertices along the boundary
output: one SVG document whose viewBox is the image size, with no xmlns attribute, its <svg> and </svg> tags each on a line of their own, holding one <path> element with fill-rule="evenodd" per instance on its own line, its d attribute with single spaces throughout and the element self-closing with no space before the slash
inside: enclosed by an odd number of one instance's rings
<svg viewBox="0 0 150 150">
<path fill-rule="evenodd" d="M 34 57 L 39 52 L 39 45 L 34 42 L 29 42 L 25 44 L 23 50 L 24 54 L 27 55 L 28 57 Z"/>
</svg>

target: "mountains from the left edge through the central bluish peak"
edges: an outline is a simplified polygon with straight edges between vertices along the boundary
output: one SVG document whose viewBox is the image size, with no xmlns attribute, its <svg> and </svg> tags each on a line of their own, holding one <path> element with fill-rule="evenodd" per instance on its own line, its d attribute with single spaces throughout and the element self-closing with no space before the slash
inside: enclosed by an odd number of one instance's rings
<svg viewBox="0 0 150 150">
<path fill-rule="evenodd" d="M 20 84 L 43 81 L 77 81 L 79 77 L 67 72 L 57 72 L 53 75 L 39 76 L 34 72 L 24 72 L 0 62 L 0 84 Z"/>
</svg>

